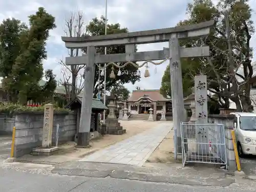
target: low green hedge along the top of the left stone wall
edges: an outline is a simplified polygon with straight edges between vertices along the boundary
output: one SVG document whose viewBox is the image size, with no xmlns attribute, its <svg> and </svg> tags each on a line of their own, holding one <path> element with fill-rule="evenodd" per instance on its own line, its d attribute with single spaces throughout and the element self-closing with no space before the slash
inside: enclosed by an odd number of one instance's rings
<svg viewBox="0 0 256 192">
<path fill-rule="evenodd" d="M 12 115 L 15 112 L 44 112 L 45 106 L 25 106 L 19 103 L 1 103 L 0 113 L 5 113 L 7 115 Z M 59 108 L 54 105 L 55 112 L 69 112 L 69 109 Z"/>
</svg>

